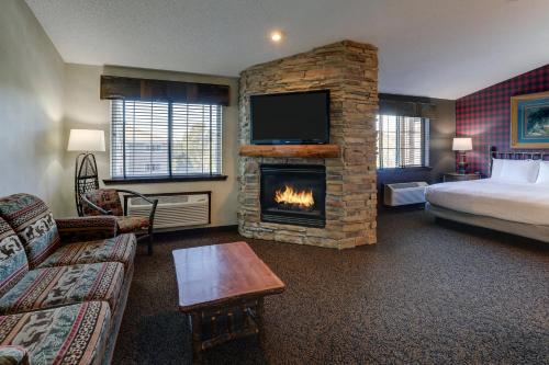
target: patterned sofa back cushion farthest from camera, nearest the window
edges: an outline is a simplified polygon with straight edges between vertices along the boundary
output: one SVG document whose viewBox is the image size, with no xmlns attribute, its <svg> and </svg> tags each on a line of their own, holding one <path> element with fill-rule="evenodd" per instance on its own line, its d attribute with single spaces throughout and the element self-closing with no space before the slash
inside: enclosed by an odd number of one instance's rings
<svg viewBox="0 0 549 365">
<path fill-rule="evenodd" d="M 14 194 L 0 198 L 0 217 L 18 233 L 31 267 L 37 266 L 59 247 L 52 212 L 36 196 Z"/>
</svg>

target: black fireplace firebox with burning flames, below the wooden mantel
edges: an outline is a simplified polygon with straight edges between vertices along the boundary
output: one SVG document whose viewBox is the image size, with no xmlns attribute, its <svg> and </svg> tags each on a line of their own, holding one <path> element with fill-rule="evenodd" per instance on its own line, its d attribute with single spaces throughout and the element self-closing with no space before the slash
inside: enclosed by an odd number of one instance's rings
<svg viewBox="0 0 549 365">
<path fill-rule="evenodd" d="M 261 164 L 261 220 L 326 226 L 326 168 L 320 164 Z"/>
</svg>

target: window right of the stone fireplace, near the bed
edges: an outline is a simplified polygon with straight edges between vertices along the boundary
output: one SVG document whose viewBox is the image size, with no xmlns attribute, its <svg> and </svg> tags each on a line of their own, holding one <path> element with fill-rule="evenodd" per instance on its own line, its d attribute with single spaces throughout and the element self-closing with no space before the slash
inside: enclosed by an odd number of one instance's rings
<svg viewBox="0 0 549 365">
<path fill-rule="evenodd" d="M 378 169 L 429 164 L 429 119 L 378 115 Z"/>
</svg>

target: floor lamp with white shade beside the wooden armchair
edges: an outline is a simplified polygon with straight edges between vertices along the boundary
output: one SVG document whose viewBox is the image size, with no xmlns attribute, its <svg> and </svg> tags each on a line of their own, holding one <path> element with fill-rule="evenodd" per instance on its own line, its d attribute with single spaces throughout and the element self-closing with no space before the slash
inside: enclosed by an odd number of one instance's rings
<svg viewBox="0 0 549 365">
<path fill-rule="evenodd" d="M 79 151 L 75 163 L 75 203 L 78 215 L 83 216 L 81 195 L 99 189 L 98 166 L 91 152 L 104 152 L 104 132 L 70 129 L 68 151 Z"/>
</svg>

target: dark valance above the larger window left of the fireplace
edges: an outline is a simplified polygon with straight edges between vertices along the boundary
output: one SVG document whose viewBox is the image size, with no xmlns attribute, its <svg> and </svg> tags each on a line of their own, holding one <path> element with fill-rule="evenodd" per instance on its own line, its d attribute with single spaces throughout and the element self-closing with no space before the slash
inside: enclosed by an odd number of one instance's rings
<svg viewBox="0 0 549 365">
<path fill-rule="evenodd" d="M 228 106 L 228 85 L 101 76 L 101 99 Z"/>
</svg>

